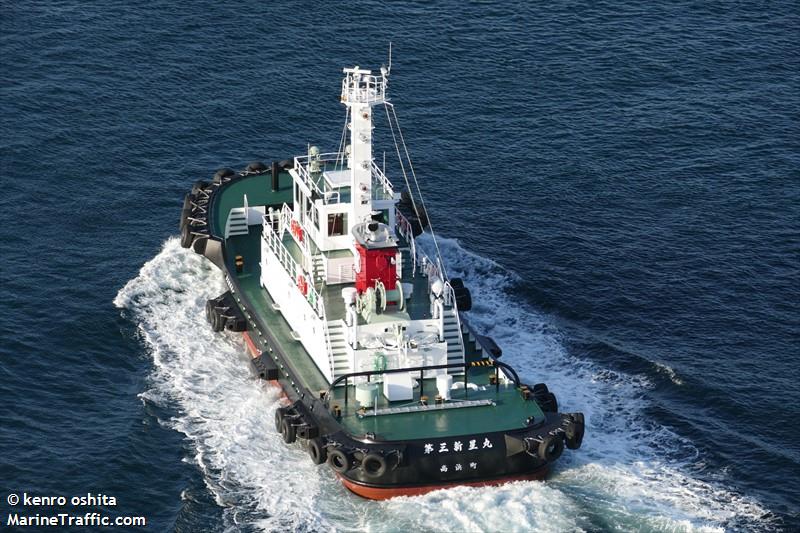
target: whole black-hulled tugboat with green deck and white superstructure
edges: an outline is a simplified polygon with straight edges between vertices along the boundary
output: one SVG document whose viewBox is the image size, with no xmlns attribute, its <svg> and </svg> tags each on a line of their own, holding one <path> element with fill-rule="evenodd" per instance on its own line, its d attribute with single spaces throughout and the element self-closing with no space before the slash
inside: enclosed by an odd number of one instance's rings
<svg viewBox="0 0 800 533">
<path fill-rule="evenodd" d="M 181 245 L 228 287 L 207 319 L 241 332 L 256 375 L 282 389 L 283 440 L 360 496 L 541 479 L 565 446 L 581 446 L 583 414 L 559 413 L 545 384 L 524 383 L 470 326 L 470 291 L 447 275 L 387 99 L 390 68 L 343 70 L 349 139 L 337 152 L 311 146 L 194 184 Z M 402 192 L 373 159 L 378 110 Z"/>
</svg>

